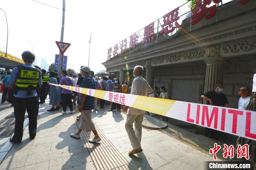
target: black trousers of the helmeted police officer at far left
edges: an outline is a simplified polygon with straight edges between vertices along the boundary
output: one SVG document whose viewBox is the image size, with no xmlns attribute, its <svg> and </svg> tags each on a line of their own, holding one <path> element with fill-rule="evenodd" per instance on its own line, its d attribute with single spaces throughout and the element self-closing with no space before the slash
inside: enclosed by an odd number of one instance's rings
<svg viewBox="0 0 256 170">
<path fill-rule="evenodd" d="M 37 134 L 37 97 L 17 98 L 14 97 L 15 129 L 13 139 L 21 141 L 23 137 L 24 116 L 27 109 L 29 115 L 29 136 Z"/>
</svg>

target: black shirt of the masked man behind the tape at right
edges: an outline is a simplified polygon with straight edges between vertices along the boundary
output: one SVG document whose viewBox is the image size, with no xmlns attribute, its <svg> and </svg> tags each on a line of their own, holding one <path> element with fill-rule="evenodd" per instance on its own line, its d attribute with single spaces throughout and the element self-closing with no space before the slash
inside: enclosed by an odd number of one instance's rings
<svg viewBox="0 0 256 170">
<path fill-rule="evenodd" d="M 215 92 L 215 90 L 206 92 L 203 95 L 210 98 L 212 100 L 214 106 L 224 107 L 227 103 L 229 103 L 227 101 L 227 97 L 225 94 L 223 94 L 223 93 L 218 94 Z M 207 104 L 210 104 L 210 101 L 207 101 Z"/>
</svg>

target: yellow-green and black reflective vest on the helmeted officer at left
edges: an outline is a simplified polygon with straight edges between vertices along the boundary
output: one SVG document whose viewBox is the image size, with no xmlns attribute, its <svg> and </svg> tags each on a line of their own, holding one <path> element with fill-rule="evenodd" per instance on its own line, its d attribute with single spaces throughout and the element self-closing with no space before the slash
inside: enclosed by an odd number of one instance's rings
<svg viewBox="0 0 256 170">
<path fill-rule="evenodd" d="M 37 68 L 29 68 L 19 65 L 16 87 L 18 90 L 33 90 L 36 89 L 40 70 Z"/>
</svg>

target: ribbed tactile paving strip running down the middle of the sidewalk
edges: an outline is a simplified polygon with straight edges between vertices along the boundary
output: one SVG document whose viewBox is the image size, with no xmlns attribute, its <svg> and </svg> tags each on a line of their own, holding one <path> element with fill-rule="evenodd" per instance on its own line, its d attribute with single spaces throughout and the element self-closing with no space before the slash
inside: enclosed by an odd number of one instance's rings
<svg viewBox="0 0 256 170">
<path fill-rule="evenodd" d="M 76 116 L 79 116 L 80 113 L 76 107 L 76 111 L 73 116 L 76 120 Z M 79 122 L 76 121 L 78 125 Z M 92 138 L 92 132 L 82 131 L 81 135 L 83 137 L 84 143 L 90 152 L 91 158 L 95 164 L 97 170 L 131 170 L 133 169 L 127 160 L 120 154 L 120 152 L 113 146 L 113 144 L 106 138 L 106 136 L 99 130 L 97 126 L 96 130 L 101 137 L 101 141 L 96 143 L 89 143 L 88 140 Z"/>
</svg>

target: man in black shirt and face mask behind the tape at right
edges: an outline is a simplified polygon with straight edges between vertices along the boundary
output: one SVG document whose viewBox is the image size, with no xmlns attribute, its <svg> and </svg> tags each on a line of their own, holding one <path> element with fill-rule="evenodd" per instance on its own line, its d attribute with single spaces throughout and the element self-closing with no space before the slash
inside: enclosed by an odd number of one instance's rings
<svg viewBox="0 0 256 170">
<path fill-rule="evenodd" d="M 218 83 L 215 87 L 215 90 L 204 93 L 201 98 L 207 101 L 208 105 L 220 106 L 220 107 L 229 107 L 229 102 L 227 97 L 223 94 L 224 85 Z M 217 131 L 210 128 L 206 128 L 205 136 L 210 135 L 210 138 L 216 140 Z"/>
</svg>

